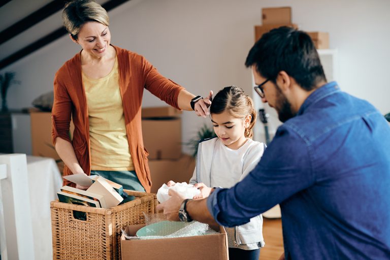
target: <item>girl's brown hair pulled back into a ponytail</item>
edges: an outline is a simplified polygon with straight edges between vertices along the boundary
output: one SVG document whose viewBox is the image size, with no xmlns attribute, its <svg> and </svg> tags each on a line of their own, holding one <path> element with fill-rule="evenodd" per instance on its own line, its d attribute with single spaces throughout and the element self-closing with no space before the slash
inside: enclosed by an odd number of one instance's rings
<svg viewBox="0 0 390 260">
<path fill-rule="evenodd" d="M 219 90 L 210 106 L 210 114 L 220 114 L 228 111 L 233 117 L 243 118 L 251 115 L 249 127 L 245 129 L 245 137 L 252 138 L 252 128 L 256 122 L 256 111 L 252 99 L 244 93 L 241 87 L 229 86 Z"/>
</svg>

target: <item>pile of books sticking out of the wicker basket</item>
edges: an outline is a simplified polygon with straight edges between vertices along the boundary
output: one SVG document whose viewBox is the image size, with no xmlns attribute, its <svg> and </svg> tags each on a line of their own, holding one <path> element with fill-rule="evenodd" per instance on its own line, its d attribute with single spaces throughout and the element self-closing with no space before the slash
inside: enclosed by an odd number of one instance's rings
<svg viewBox="0 0 390 260">
<path fill-rule="evenodd" d="M 61 187 L 57 195 L 58 200 L 63 203 L 107 209 L 117 206 L 125 197 L 122 185 L 98 175 L 74 174 L 63 178 L 79 185 L 89 186 L 87 190 L 70 186 Z"/>
</svg>

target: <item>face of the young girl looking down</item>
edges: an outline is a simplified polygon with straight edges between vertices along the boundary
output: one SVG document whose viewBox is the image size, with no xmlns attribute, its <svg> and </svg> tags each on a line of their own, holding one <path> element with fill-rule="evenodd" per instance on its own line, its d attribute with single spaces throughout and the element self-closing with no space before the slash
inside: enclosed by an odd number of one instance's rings
<svg viewBox="0 0 390 260">
<path fill-rule="evenodd" d="M 249 127 L 252 116 L 233 117 L 228 111 L 211 114 L 214 132 L 225 146 L 237 150 L 246 141 L 245 128 Z"/>
</svg>

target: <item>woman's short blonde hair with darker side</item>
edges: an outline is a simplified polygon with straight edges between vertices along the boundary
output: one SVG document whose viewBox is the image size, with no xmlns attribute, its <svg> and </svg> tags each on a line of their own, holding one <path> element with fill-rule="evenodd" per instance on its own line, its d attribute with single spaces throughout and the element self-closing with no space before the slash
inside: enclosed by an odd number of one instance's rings
<svg viewBox="0 0 390 260">
<path fill-rule="evenodd" d="M 108 26 L 110 18 L 107 11 L 93 0 L 74 0 L 65 5 L 62 23 L 75 40 L 86 22 L 100 22 Z"/>
</svg>

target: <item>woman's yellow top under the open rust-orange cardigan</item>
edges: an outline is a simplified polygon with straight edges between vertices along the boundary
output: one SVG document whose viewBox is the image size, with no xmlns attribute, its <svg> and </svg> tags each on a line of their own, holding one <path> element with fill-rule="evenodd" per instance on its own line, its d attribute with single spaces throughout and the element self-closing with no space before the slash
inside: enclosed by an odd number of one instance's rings
<svg viewBox="0 0 390 260">
<path fill-rule="evenodd" d="M 100 79 L 82 73 L 91 146 L 91 170 L 134 171 L 128 148 L 119 90 L 118 61 L 112 71 Z"/>
</svg>

